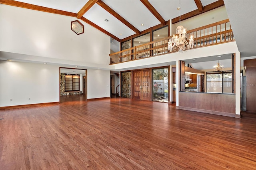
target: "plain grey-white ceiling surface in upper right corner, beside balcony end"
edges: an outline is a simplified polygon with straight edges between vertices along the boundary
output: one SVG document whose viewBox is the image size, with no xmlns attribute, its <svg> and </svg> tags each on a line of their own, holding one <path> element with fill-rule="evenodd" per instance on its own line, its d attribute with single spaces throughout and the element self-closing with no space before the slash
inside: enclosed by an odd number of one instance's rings
<svg viewBox="0 0 256 170">
<path fill-rule="evenodd" d="M 224 0 L 241 57 L 256 56 L 256 0 Z"/>
</svg>

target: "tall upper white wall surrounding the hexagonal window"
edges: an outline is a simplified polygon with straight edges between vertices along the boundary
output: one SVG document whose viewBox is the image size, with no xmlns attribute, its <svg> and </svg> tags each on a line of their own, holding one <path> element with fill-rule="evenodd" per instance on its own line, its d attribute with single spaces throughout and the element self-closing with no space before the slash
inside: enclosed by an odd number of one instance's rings
<svg viewBox="0 0 256 170">
<path fill-rule="evenodd" d="M 82 20 L 84 34 L 76 35 L 70 24 L 77 18 L 4 4 L 0 7 L 1 51 L 30 55 L 27 60 L 32 61 L 110 67 L 110 37 Z M 26 57 L 23 55 L 19 59 Z"/>
</svg>

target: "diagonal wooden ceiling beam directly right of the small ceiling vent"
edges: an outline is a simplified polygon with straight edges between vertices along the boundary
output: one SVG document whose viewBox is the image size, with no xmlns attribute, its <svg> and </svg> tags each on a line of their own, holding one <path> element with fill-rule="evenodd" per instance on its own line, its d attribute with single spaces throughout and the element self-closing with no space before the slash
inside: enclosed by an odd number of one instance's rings
<svg viewBox="0 0 256 170">
<path fill-rule="evenodd" d="M 116 17 L 119 21 L 121 21 L 123 24 L 128 26 L 131 30 L 136 32 L 137 34 L 140 34 L 140 30 L 135 28 L 132 24 L 130 24 L 128 21 L 126 21 L 122 16 L 120 16 L 118 13 L 116 13 L 114 10 L 112 10 L 109 6 L 107 6 L 104 2 L 99 0 L 97 2 L 99 6 L 101 6 L 104 10 L 108 11 L 112 16 Z"/>
</svg>

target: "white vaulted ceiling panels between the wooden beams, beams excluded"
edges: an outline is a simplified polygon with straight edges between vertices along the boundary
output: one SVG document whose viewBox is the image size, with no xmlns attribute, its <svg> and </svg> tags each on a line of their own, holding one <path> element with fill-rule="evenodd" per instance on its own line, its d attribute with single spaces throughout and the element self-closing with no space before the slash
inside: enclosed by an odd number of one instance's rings
<svg viewBox="0 0 256 170">
<path fill-rule="evenodd" d="M 88 0 L 17 0 L 28 4 L 34 4 L 47 8 L 78 13 Z M 158 13 L 168 21 L 179 16 L 177 8 L 181 6 L 180 13 L 186 14 L 197 9 L 193 0 L 148 0 Z M 201 0 L 202 5 L 206 6 L 217 0 Z M 126 21 L 140 31 L 161 24 L 160 21 L 140 2 L 140 0 L 102 0 L 112 10 L 117 12 Z M 126 38 L 135 34 L 133 30 L 112 16 L 98 4 L 94 4 L 84 15 L 84 18 L 100 26 L 107 32 L 118 37 Z M 105 19 L 109 20 L 106 22 Z M 144 24 L 144 26 L 141 26 Z M 120 35 L 122 34 L 122 35 Z"/>
</svg>

